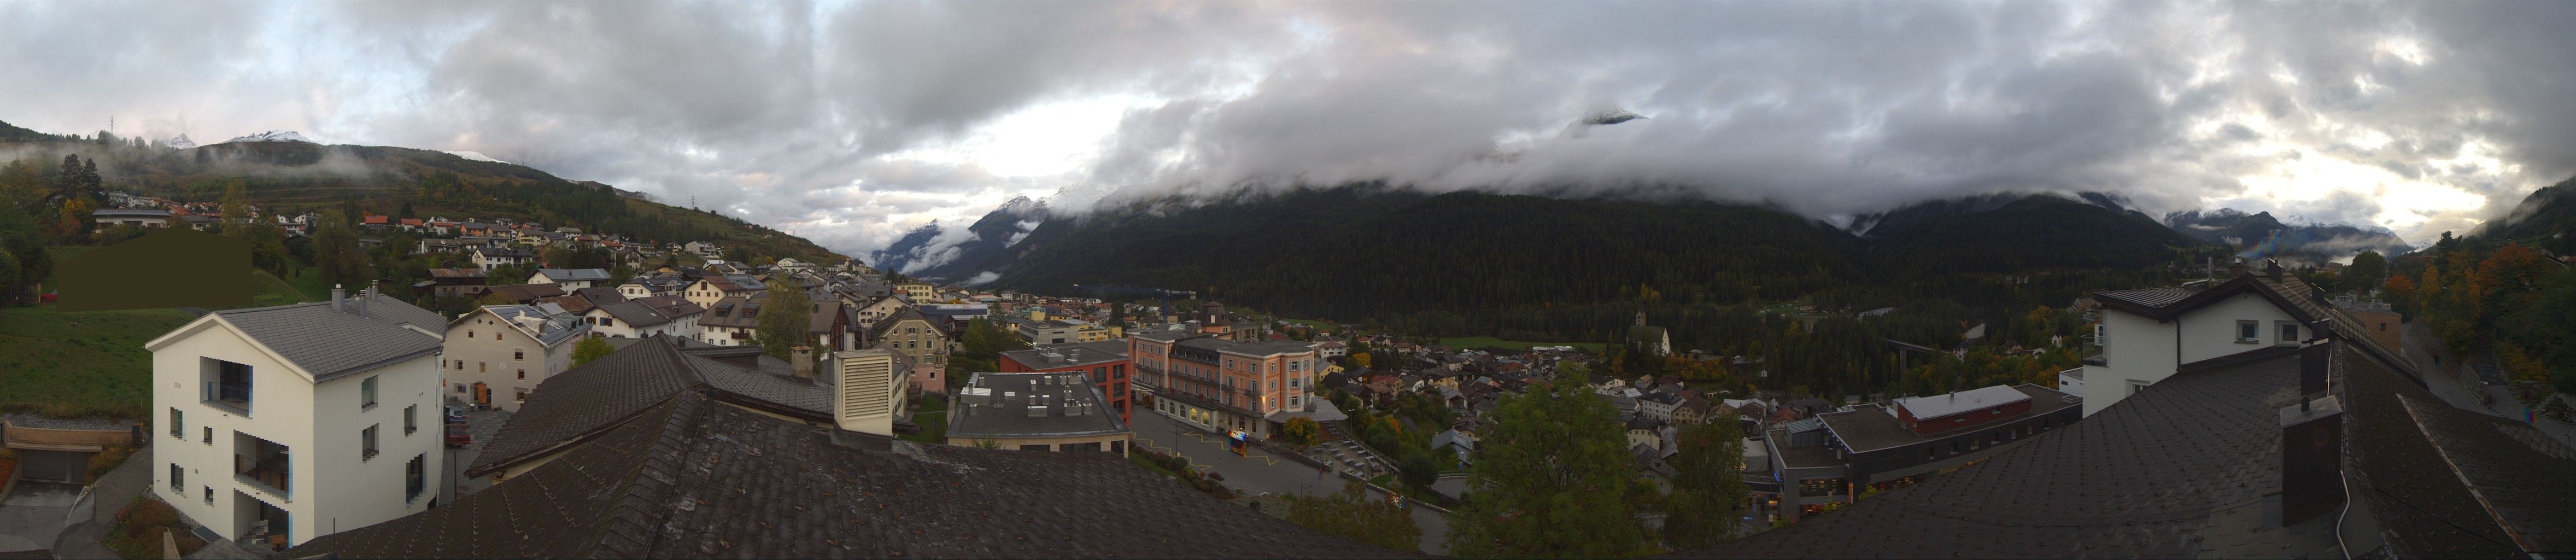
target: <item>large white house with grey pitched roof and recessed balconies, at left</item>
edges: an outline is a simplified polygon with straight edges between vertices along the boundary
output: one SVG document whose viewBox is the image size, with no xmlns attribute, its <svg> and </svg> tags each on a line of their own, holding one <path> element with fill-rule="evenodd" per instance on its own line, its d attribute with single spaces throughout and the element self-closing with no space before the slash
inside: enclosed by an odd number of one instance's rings
<svg viewBox="0 0 2576 560">
<path fill-rule="evenodd" d="M 438 312 L 327 302 L 206 312 L 152 351 L 149 490 L 240 542 L 301 545 L 420 514 L 446 462 Z M 371 490 L 353 490 L 371 488 Z"/>
</svg>

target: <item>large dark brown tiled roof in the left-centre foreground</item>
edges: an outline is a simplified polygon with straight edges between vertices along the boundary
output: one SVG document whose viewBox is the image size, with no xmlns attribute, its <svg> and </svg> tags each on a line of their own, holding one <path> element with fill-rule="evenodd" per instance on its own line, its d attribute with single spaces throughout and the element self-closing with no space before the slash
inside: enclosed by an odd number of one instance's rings
<svg viewBox="0 0 2576 560">
<path fill-rule="evenodd" d="M 286 550 L 312 555 L 1417 557 L 1213 501 L 1115 454 L 886 441 L 698 392 L 451 506 Z"/>
</svg>

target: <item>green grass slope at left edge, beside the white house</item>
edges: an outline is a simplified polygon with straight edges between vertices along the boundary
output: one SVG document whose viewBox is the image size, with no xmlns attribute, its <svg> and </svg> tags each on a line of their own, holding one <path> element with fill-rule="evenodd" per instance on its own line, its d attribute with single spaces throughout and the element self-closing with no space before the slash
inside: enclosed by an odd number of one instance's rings
<svg viewBox="0 0 2576 560">
<path fill-rule="evenodd" d="M 185 325 L 180 310 L 57 312 L 0 310 L 0 410 L 144 418 L 152 354 L 144 343 Z"/>
</svg>

